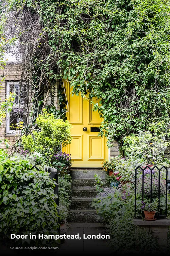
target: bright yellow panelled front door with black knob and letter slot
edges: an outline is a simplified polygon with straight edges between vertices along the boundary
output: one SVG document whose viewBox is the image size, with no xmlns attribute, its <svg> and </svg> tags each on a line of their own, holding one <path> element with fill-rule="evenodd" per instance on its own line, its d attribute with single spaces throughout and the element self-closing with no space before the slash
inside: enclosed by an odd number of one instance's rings
<svg viewBox="0 0 170 256">
<path fill-rule="evenodd" d="M 98 127 L 102 118 L 92 110 L 92 102 L 80 95 L 70 93 L 70 85 L 64 81 L 68 100 L 67 120 L 72 125 L 70 145 L 63 152 L 71 154 L 73 167 L 100 167 L 104 159 L 108 159 L 106 138 L 98 137 Z M 95 102 L 95 100 L 93 100 Z"/>
</svg>

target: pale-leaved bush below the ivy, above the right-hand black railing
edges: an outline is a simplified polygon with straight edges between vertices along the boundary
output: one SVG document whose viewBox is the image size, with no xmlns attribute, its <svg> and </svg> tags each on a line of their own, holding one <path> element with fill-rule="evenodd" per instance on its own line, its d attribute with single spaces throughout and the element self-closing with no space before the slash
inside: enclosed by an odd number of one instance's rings
<svg viewBox="0 0 170 256">
<path fill-rule="evenodd" d="M 164 154 L 170 145 L 167 141 L 170 130 L 164 131 L 164 123 L 150 123 L 147 127 L 148 131 L 140 131 L 139 134 L 123 137 L 123 149 L 126 156 L 143 159 L 147 163 L 168 161 L 164 159 Z"/>
</svg>

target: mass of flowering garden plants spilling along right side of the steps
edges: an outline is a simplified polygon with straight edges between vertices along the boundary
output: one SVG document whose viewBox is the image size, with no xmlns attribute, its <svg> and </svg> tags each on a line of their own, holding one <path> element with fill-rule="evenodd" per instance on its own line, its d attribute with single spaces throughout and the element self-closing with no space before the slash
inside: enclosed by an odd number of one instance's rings
<svg viewBox="0 0 170 256">
<path fill-rule="evenodd" d="M 117 188 L 104 188 L 103 182 L 96 174 L 96 188 L 98 195 L 92 203 L 97 214 L 107 224 L 108 233 L 112 237 L 114 252 L 119 253 L 149 253 L 159 252 L 160 247 L 152 232 L 136 228 L 134 217 L 143 218 L 143 211 L 165 213 L 166 185 L 165 170 L 160 172 L 160 205 L 158 203 L 158 170 L 155 165 L 169 166 L 169 160 L 164 157 L 169 145 L 166 141 L 167 133 L 161 133 L 164 122 L 150 124 L 148 131 L 141 131 L 138 135 L 131 134 L 123 138 L 126 156 L 114 157 L 113 162 L 104 161 L 103 169 L 112 170 L 113 176 L 107 180 L 121 182 Z M 152 171 L 152 203 L 151 203 L 151 171 L 147 168 L 143 173 L 137 171 L 137 195 L 135 213 L 135 169 L 138 166 L 154 168 Z M 118 173 L 117 173 L 118 171 Z M 142 181 L 144 183 L 144 197 L 142 200 Z M 170 195 L 168 195 L 167 216 L 170 215 Z M 157 217 L 157 216 L 156 216 Z"/>
</svg>

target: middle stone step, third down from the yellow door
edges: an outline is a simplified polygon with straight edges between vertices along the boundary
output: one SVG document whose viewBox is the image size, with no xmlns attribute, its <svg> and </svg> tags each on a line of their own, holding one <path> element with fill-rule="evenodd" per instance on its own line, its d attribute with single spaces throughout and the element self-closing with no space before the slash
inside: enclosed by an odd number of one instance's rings
<svg viewBox="0 0 170 256">
<path fill-rule="evenodd" d="M 71 189 L 71 196 L 72 198 L 75 197 L 96 197 L 97 191 L 95 187 L 74 187 Z"/>
</svg>

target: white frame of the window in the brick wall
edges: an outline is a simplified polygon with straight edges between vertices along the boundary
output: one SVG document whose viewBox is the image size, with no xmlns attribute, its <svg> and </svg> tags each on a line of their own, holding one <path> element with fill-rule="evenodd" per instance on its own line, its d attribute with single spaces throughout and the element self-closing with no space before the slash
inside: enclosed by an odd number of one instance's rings
<svg viewBox="0 0 170 256">
<path fill-rule="evenodd" d="M 9 97 L 10 95 L 10 84 L 20 84 L 20 81 L 7 81 L 6 82 L 6 95 L 7 95 L 7 98 Z M 13 106 L 17 106 L 19 107 L 19 104 L 13 104 Z M 10 113 L 7 112 L 6 113 L 6 135 L 7 136 L 14 136 L 16 134 L 19 134 L 20 133 L 20 130 L 13 130 L 13 129 L 10 129 Z"/>
</svg>

